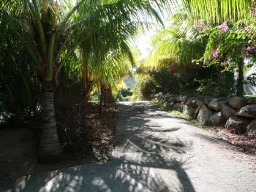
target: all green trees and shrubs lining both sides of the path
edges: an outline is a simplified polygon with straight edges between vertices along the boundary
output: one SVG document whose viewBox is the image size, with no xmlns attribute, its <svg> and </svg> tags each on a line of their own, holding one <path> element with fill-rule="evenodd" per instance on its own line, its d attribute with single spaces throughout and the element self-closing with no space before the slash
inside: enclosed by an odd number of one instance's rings
<svg viewBox="0 0 256 192">
<path fill-rule="evenodd" d="M 172 12 L 170 26 L 138 62 L 132 40 L 151 20 L 162 25 L 162 12 Z M 59 160 L 56 118 L 73 122 L 90 96 L 99 114 L 106 104 L 160 91 L 241 96 L 244 61 L 254 65 L 252 0 L 4 0 L 0 15 L 1 125 L 32 123 L 40 162 Z M 135 66 L 138 86 L 118 89 Z"/>
</svg>

